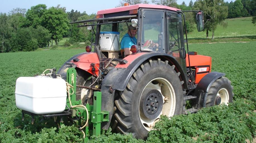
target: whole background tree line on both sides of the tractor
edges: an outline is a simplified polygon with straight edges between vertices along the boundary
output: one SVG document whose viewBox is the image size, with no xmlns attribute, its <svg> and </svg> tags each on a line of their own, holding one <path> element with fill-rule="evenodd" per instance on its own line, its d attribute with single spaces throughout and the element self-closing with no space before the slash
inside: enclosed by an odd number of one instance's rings
<svg viewBox="0 0 256 143">
<path fill-rule="evenodd" d="M 122 0 L 118 6 L 123 6 L 126 2 L 130 5 L 150 3 L 148 0 Z M 226 18 L 254 16 L 252 23 L 256 24 L 256 0 L 236 0 L 230 3 L 224 0 L 197 0 L 194 3 L 190 1 L 188 6 L 185 2 L 177 4 L 176 0 L 151 0 L 151 3 L 182 10 L 204 11 L 206 37 L 212 31 L 212 39 L 218 24 L 227 26 L 224 22 Z M 66 46 L 76 42 L 85 42 L 88 45 L 92 33 L 85 27 L 78 28 L 76 24 L 68 22 L 93 19 L 95 16 L 96 14 L 88 15 L 73 9 L 66 12 L 66 8 L 60 5 L 47 9 L 45 4 L 32 6 L 28 10 L 15 8 L 8 14 L 0 13 L 0 52 L 34 51 L 37 48 L 53 46 L 53 41 L 58 45 L 63 37 L 69 37 L 65 42 Z M 187 32 L 191 32 L 195 29 L 195 14 L 186 12 L 185 16 Z"/>
</svg>

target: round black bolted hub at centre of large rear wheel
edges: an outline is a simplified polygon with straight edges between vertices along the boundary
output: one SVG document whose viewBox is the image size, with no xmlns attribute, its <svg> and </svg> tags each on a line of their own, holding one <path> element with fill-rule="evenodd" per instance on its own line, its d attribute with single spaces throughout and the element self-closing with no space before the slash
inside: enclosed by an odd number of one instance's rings
<svg viewBox="0 0 256 143">
<path fill-rule="evenodd" d="M 156 89 L 148 89 L 142 95 L 140 106 L 142 113 L 148 119 L 155 119 L 159 116 L 163 108 L 163 98 L 161 92 Z"/>
</svg>

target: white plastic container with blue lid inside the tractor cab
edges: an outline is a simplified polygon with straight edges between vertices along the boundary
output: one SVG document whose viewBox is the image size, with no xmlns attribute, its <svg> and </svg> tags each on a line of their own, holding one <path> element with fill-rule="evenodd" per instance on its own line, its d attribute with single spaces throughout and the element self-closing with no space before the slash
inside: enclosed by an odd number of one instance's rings
<svg viewBox="0 0 256 143">
<path fill-rule="evenodd" d="M 103 51 L 119 51 L 120 32 L 105 31 L 100 32 L 99 44 Z"/>
</svg>

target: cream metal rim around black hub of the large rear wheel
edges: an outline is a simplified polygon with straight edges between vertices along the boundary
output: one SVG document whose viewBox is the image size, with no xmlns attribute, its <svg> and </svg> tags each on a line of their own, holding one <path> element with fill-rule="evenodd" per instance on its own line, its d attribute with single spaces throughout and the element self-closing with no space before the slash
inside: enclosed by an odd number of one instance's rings
<svg viewBox="0 0 256 143">
<path fill-rule="evenodd" d="M 142 95 L 144 91 L 147 91 L 147 89 L 156 89 L 162 94 L 162 111 L 155 119 L 148 119 L 147 117 L 143 116 L 143 110 L 141 109 L 141 100 Z M 176 106 L 176 98 L 175 98 L 175 92 L 172 84 L 165 78 L 157 77 L 152 79 L 150 82 L 147 83 L 147 85 L 144 87 L 141 95 L 140 95 L 140 102 L 139 102 L 139 116 L 140 116 L 140 122 L 142 123 L 143 127 L 150 131 L 155 126 L 155 123 L 159 121 L 161 115 L 166 115 L 168 117 L 171 117 L 174 115 Z"/>
</svg>

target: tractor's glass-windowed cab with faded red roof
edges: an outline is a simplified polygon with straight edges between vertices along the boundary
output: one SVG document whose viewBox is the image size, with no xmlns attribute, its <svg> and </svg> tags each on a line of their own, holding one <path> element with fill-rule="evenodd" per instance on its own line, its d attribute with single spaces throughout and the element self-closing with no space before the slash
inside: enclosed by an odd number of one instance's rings
<svg viewBox="0 0 256 143">
<path fill-rule="evenodd" d="M 137 4 L 101 10 L 97 12 L 95 19 L 71 22 L 71 24 L 83 23 L 78 27 L 87 26 L 87 29 L 92 31 L 95 41 L 92 41 L 91 47 L 99 58 L 116 59 L 125 58 L 126 54 L 121 49 L 120 42 L 131 24 L 137 29 L 136 46 L 130 47 L 133 54 L 141 52 L 169 54 L 186 74 L 188 50 L 185 49 L 182 14 L 180 9 L 173 7 Z M 202 13 L 197 13 L 201 30 L 203 29 L 202 17 Z M 197 27 L 200 28 L 200 26 Z"/>
</svg>

